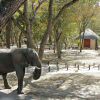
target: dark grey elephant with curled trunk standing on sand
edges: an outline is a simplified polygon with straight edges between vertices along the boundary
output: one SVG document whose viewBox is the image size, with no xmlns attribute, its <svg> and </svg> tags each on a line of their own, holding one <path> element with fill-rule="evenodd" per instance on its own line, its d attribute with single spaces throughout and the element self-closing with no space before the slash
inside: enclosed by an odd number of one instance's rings
<svg viewBox="0 0 100 100">
<path fill-rule="evenodd" d="M 0 75 L 3 77 L 5 89 L 11 88 L 7 82 L 7 73 L 15 71 L 18 79 L 17 93 L 22 94 L 25 68 L 30 65 L 35 66 L 33 79 L 39 79 L 41 76 L 41 61 L 35 50 L 31 48 L 16 48 L 8 53 L 0 53 Z"/>
</svg>

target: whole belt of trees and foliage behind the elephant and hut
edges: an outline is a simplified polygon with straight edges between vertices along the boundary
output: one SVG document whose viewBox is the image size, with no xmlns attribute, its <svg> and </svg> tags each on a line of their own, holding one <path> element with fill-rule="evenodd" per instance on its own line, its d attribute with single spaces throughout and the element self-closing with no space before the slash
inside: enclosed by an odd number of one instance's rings
<svg viewBox="0 0 100 100">
<path fill-rule="evenodd" d="M 26 44 L 42 60 L 45 45 L 53 45 L 60 57 L 63 45 L 74 47 L 86 28 L 100 36 L 98 0 L 26 0 L 0 34 L 1 46 Z M 100 44 L 100 43 L 99 43 Z"/>
</svg>

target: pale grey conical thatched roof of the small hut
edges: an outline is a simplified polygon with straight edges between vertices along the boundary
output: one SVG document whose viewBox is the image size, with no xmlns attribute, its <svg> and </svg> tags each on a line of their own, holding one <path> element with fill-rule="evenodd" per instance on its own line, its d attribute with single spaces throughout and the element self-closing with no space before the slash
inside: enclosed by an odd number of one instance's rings
<svg viewBox="0 0 100 100">
<path fill-rule="evenodd" d="M 86 29 L 84 32 L 84 37 L 83 37 L 83 32 L 76 37 L 76 39 L 99 39 L 99 36 L 94 33 L 91 29 Z"/>
</svg>

